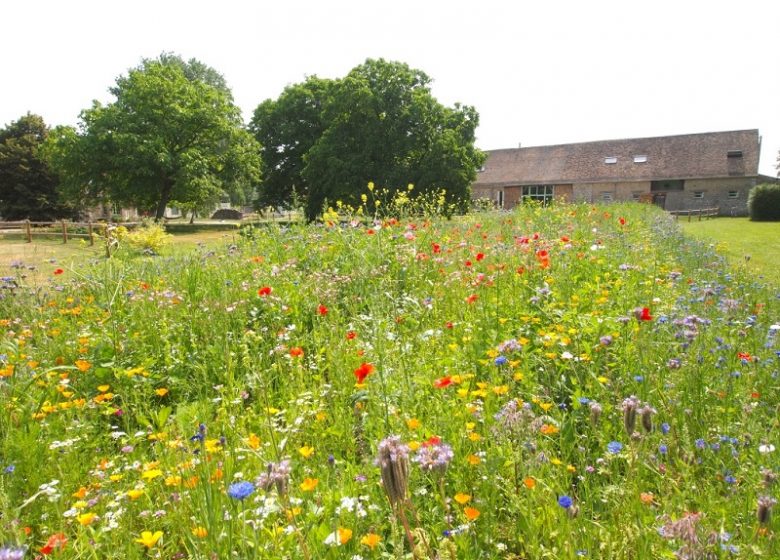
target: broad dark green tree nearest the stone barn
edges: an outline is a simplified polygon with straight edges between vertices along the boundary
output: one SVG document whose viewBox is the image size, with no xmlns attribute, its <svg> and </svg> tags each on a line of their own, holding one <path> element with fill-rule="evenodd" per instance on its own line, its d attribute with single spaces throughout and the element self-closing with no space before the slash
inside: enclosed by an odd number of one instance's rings
<svg viewBox="0 0 780 560">
<path fill-rule="evenodd" d="M 369 59 L 342 79 L 309 78 L 264 101 L 250 124 L 263 145 L 261 200 L 289 203 L 294 191 L 312 219 L 326 200 L 356 205 L 373 181 L 467 201 L 484 162 L 474 146 L 479 115 L 439 103 L 430 81 L 406 64 Z"/>
</svg>

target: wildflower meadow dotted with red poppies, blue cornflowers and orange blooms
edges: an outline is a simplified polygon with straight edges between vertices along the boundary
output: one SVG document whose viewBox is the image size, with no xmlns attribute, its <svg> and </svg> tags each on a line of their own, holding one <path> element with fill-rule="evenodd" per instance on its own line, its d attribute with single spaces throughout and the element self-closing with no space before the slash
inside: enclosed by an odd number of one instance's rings
<svg viewBox="0 0 780 560">
<path fill-rule="evenodd" d="M 648 205 L 332 214 L 2 271 L 1 559 L 780 557 L 772 279 Z"/>
</svg>

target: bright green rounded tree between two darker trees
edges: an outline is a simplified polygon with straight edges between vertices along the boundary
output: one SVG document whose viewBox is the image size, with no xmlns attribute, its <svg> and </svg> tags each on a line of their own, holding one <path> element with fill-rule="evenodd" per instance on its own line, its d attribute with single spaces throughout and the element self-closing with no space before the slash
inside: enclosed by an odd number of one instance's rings
<svg viewBox="0 0 780 560">
<path fill-rule="evenodd" d="M 257 142 L 224 79 L 196 60 L 144 60 L 111 88 L 113 103 L 82 111 L 78 129 L 52 132 L 47 156 L 77 200 L 152 210 L 243 201 L 259 180 Z"/>
</svg>

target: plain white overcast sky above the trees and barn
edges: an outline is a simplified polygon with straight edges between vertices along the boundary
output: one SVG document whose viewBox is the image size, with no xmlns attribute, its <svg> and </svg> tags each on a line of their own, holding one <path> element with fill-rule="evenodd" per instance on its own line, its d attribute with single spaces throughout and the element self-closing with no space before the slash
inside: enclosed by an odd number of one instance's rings
<svg viewBox="0 0 780 560">
<path fill-rule="evenodd" d="M 483 149 L 758 128 L 776 174 L 776 0 L 9 0 L 0 21 L 0 125 L 76 124 L 163 51 L 222 73 L 247 120 L 307 75 L 383 57 L 474 105 Z"/>
</svg>

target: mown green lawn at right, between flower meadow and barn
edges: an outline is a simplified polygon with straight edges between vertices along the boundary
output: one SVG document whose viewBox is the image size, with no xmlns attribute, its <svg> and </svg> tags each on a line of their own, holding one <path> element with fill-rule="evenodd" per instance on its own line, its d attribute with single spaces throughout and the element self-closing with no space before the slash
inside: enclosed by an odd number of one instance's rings
<svg viewBox="0 0 780 560">
<path fill-rule="evenodd" d="M 780 223 L 715 218 L 701 222 L 681 220 L 680 225 L 685 233 L 715 244 L 716 250 L 734 266 L 768 278 L 780 277 Z"/>
</svg>

